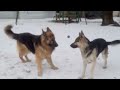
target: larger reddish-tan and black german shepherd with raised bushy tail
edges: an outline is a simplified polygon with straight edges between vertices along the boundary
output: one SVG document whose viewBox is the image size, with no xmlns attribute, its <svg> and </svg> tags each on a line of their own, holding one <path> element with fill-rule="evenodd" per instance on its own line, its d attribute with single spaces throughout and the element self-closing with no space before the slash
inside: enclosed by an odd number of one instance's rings
<svg viewBox="0 0 120 90">
<path fill-rule="evenodd" d="M 38 76 L 42 76 L 42 60 L 46 59 L 52 69 L 58 69 L 52 62 L 52 52 L 58 46 L 53 32 L 47 27 L 47 31 L 42 30 L 41 35 L 30 33 L 16 34 L 12 30 L 12 25 L 4 28 L 5 33 L 12 39 L 17 40 L 19 57 L 23 63 L 29 62 L 27 55 L 32 52 L 35 54 Z M 23 58 L 25 56 L 26 60 Z"/>
</svg>

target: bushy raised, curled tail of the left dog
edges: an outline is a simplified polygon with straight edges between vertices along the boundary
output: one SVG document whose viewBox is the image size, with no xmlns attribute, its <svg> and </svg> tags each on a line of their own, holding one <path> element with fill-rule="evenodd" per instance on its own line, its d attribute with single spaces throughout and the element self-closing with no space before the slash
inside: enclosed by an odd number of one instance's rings
<svg viewBox="0 0 120 90">
<path fill-rule="evenodd" d="M 11 29 L 13 28 L 12 25 L 7 25 L 5 28 L 4 28 L 4 32 L 7 36 L 9 36 L 10 38 L 12 39 L 17 39 L 17 34 L 15 34 Z"/>
</svg>

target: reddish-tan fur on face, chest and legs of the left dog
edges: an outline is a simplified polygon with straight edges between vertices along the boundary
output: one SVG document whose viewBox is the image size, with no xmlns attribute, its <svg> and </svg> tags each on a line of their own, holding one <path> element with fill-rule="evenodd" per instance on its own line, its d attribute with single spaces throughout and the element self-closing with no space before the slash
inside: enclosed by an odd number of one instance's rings
<svg viewBox="0 0 120 90">
<path fill-rule="evenodd" d="M 48 36 L 48 39 L 52 39 L 54 36 L 51 31 L 46 32 L 46 35 Z M 38 69 L 38 76 L 42 76 L 42 60 L 43 59 L 47 60 L 48 64 L 51 66 L 52 69 L 54 70 L 58 69 L 52 62 L 51 55 L 53 50 L 51 47 L 48 46 L 47 44 L 49 43 L 48 41 L 46 41 L 44 35 L 42 35 L 41 46 L 40 45 L 35 46 L 35 58 L 36 58 L 36 64 Z M 27 47 L 24 44 L 17 41 L 17 49 L 19 52 L 19 57 L 23 63 L 30 61 L 27 57 L 30 51 L 27 49 Z M 26 60 L 23 59 L 23 56 L 25 56 Z"/>
</svg>

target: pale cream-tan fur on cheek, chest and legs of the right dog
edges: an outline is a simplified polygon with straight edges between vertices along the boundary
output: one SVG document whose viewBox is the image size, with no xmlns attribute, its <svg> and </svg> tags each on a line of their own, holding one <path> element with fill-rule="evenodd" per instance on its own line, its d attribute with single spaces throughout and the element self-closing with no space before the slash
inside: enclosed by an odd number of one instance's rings
<svg viewBox="0 0 120 90">
<path fill-rule="evenodd" d="M 86 55 L 89 53 L 89 51 L 87 53 L 84 52 L 85 48 L 88 47 L 88 42 L 87 42 L 85 36 L 83 36 L 83 38 L 79 40 L 77 45 L 80 48 L 82 59 L 83 59 L 83 70 L 82 70 L 82 76 L 80 78 L 85 77 L 87 64 L 91 63 L 92 66 L 91 66 L 91 70 L 90 70 L 90 79 L 93 79 L 96 60 L 97 60 L 97 49 L 95 48 L 92 51 L 91 55 L 89 57 L 86 57 Z M 108 47 L 102 52 L 102 56 L 104 59 L 103 68 L 106 68 L 107 67 L 107 57 L 108 57 Z"/>
</svg>

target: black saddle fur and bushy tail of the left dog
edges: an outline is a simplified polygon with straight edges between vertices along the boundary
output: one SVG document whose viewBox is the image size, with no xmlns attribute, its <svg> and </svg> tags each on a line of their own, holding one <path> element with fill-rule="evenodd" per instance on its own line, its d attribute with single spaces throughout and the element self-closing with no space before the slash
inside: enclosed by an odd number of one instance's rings
<svg viewBox="0 0 120 90">
<path fill-rule="evenodd" d="M 34 45 L 41 45 L 41 36 L 33 35 L 30 33 L 15 34 L 14 32 L 12 32 L 11 28 L 11 25 L 6 26 L 4 29 L 5 33 L 12 39 L 18 40 L 19 42 L 24 44 L 33 54 L 35 54 Z"/>
</svg>

